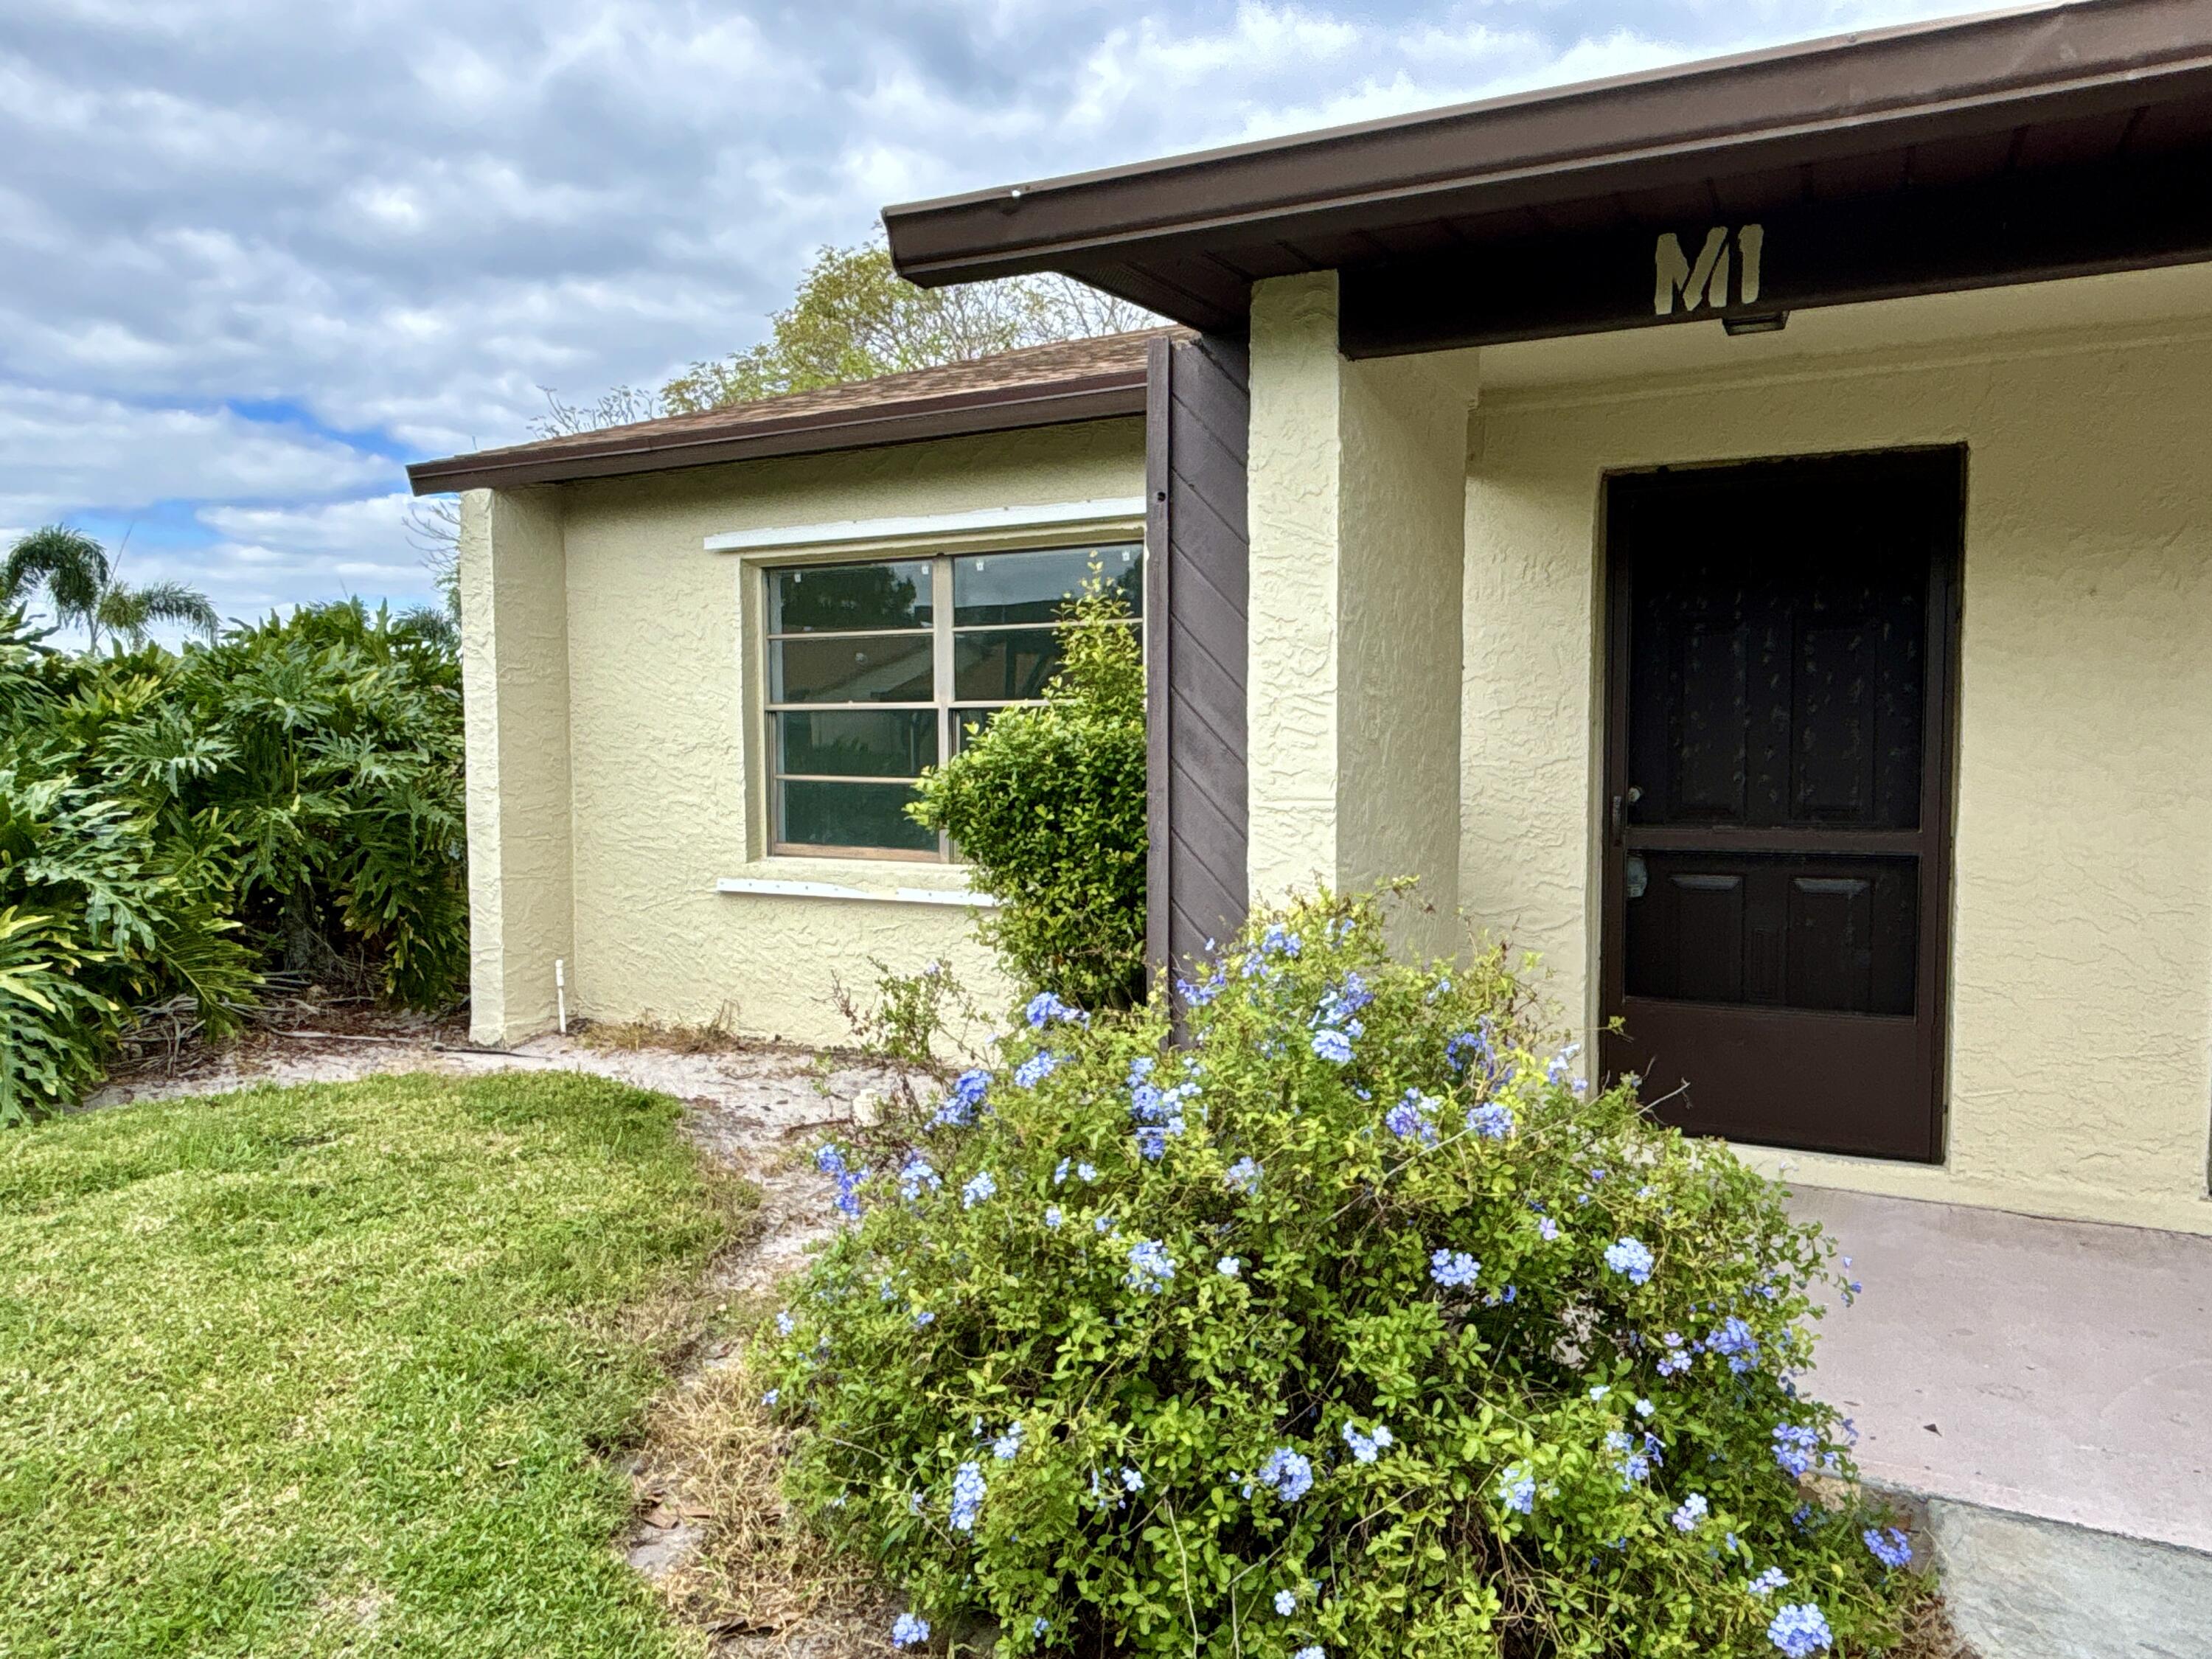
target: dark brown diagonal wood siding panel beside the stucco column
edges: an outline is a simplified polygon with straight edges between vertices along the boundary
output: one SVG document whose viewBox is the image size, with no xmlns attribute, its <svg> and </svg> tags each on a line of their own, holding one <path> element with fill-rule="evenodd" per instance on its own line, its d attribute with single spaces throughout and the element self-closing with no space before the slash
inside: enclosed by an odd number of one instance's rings
<svg viewBox="0 0 2212 1659">
<path fill-rule="evenodd" d="M 1146 405 L 1150 867 L 1146 947 L 1181 967 L 1243 920 L 1250 531 L 1245 352 L 1159 341 Z"/>
</svg>

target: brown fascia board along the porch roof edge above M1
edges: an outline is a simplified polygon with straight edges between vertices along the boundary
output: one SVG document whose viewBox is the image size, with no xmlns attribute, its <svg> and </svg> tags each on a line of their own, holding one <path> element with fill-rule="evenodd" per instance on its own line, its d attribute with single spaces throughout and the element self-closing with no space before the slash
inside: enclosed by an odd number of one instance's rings
<svg viewBox="0 0 2212 1659">
<path fill-rule="evenodd" d="M 1832 35 L 885 208 L 898 270 L 1141 263 L 1790 166 L 2212 91 L 2212 0 L 2088 0 Z"/>
</svg>

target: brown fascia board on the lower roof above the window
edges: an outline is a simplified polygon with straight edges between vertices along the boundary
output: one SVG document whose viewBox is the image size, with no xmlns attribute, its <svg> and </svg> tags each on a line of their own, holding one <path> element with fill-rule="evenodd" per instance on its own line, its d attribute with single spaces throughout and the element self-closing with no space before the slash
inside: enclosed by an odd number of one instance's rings
<svg viewBox="0 0 2212 1659">
<path fill-rule="evenodd" d="M 1037 387 L 956 392 L 938 398 L 816 411 L 785 420 L 750 420 L 739 427 L 681 434 L 624 434 L 611 429 L 602 442 L 518 445 L 447 460 L 420 460 L 407 469 L 416 495 L 453 489 L 511 489 L 560 484 L 580 478 L 712 467 L 726 460 L 772 456 L 816 456 L 836 449 L 964 438 L 1018 427 L 1055 427 L 1075 420 L 1113 420 L 1144 414 L 1144 367 L 1055 380 Z"/>
</svg>

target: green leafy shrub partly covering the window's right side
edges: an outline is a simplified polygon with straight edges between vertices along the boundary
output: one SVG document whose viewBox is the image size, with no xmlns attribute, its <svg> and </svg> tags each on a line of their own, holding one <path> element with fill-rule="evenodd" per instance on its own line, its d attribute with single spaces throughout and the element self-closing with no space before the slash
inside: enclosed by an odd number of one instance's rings
<svg viewBox="0 0 2212 1659">
<path fill-rule="evenodd" d="M 911 807 L 1000 902 L 982 936 L 1004 967 L 1086 1009 L 1144 998 L 1144 657 L 1119 615 L 1093 582 L 1060 626 L 1048 701 L 1000 712 Z"/>
</svg>

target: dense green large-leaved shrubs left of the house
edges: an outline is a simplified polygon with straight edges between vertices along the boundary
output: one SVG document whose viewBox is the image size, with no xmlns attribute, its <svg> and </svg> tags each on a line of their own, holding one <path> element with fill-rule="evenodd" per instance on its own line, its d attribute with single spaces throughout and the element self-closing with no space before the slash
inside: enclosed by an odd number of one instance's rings
<svg viewBox="0 0 2212 1659">
<path fill-rule="evenodd" d="M 465 852 L 447 644 L 336 604 L 64 657 L 0 615 L 0 1124 L 73 1104 L 135 1009 L 221 1031 L 270 969 L 449 1002 Z"/>
</svg>

